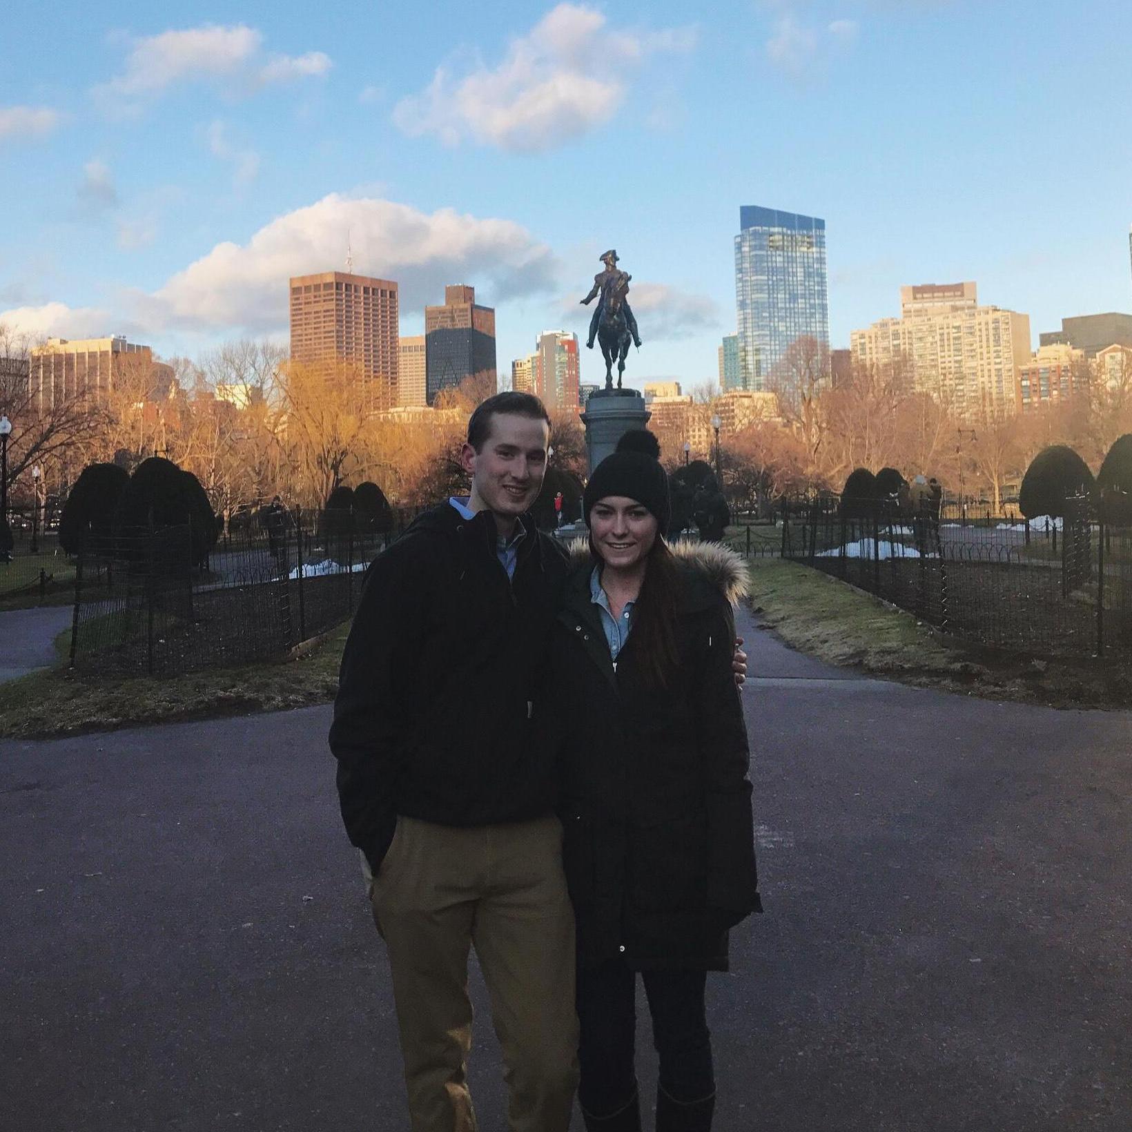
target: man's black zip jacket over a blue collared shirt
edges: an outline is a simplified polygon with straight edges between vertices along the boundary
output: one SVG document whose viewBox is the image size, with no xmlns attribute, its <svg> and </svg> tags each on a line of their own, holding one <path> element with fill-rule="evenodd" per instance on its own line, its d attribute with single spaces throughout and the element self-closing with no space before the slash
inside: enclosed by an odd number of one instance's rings
<svg viewBox="0 0 1132 1132">
<path fill-rule="evenodd" d="M 331 751 L 350 840 L 380 865 L 397 814 L 488 825 L 549 813 L 532 704 L 566 578 L 524 521 L 514 577 L 490 512 L 421 515 L 369 567 L 342 657 Z"/>
</svg>

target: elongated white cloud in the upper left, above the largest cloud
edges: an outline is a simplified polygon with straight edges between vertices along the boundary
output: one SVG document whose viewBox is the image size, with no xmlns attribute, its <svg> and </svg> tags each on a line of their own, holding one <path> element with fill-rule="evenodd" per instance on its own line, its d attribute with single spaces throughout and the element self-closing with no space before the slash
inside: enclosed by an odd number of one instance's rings
<svg viewBox="0 0 1132 1132">
<path fill-rule="evenodd" d="M 135 40 L 121 74 L 95 87 L 95 94 L 128 109 L 178 83 L 213 82 L 230 92 L 249 93 L 268 83 L 323 76 L 332 67 L 321 51 L 265 60 L 261 48 L 263 34 L 243 24 L 162 32 Z"/>
</svg>

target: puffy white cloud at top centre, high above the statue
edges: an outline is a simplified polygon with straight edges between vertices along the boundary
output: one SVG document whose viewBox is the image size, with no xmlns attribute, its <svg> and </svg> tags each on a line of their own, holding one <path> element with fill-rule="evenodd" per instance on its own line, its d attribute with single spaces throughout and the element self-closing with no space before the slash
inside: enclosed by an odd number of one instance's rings
<svg viewBox="0 0 1132 1132">
<path fill-rule="evenodd" d="M 491 68 L 464 74 L 441 65 L 393 120 L 405 134 L 446 145 L 471 138 L 513 152 L 551 149 L 608 121 L 624 101 L 626 76 L 651 54 L 688 51 L 694 28 L 615 31 L 593 8 L 560 3 L 512 41 Z"/>
</svg>

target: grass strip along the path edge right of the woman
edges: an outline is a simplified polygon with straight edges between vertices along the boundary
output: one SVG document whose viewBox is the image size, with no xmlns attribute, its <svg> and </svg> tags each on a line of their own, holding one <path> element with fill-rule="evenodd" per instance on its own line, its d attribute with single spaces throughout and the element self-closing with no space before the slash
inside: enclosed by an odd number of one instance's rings
<svg viewBox="0 0 1132 1132">
<path fill-rule="evenodd" d="M 797 563 L 751 563 L 751 600 L 787 644 L 831 664 L 921 687 L 1055 707 L 1132 706 L 1132 664 L 1035 659 L 967 645 L 914 615 Z"/>
</svg>

